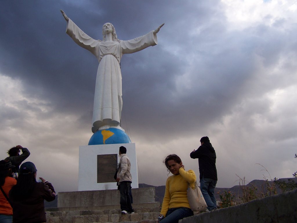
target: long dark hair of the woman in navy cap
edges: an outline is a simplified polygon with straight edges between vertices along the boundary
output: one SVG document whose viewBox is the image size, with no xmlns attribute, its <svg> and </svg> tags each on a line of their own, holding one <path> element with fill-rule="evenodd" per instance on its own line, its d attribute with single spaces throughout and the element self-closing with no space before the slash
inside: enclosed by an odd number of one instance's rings
<svg viewBox="0 0 297 223">
<path fill-rule="evenodd" d="M 30 197 L 36 183 L 35 172 L 20 174 L 17 184 L 12 187 L 9 195 L 13 200 L 22 200 Z"/>
</svg>

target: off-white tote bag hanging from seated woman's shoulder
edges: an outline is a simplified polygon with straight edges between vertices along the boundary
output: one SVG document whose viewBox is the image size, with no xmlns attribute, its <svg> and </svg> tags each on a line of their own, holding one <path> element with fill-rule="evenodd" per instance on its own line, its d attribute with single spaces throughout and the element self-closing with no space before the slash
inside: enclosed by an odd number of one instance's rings
<svg viewBox="0 0 297 223">
<path fill-rule="evenodd" d="M 206 209 L 207 205 L 200 188 L 197 186 L 197 181 L 194 189 L 191 188 L 188 182 L 187 196 L 192 211 L 204 211 Z"/>
</svg>

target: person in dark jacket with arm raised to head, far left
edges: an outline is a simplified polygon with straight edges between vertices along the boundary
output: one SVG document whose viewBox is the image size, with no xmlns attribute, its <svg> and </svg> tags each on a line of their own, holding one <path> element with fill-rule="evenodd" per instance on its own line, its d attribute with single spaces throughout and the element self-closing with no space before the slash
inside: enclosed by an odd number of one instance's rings
<svg viewBox="0 0 297 223">
<path fill-rule="evenodd" d="M 20 155 L 20 150 L 22 150 L 22 154 Z M 17 145 L 16 147 L 12 147 L 7 151 L 9 157 L 5 158 L 5 161 L 10 161 L 13 166 L 13 173 L 18 173 L 20 164 L 30 156 L 30 152 L 27 148 L 23 148 L 21 145 Z"/>
</svg>

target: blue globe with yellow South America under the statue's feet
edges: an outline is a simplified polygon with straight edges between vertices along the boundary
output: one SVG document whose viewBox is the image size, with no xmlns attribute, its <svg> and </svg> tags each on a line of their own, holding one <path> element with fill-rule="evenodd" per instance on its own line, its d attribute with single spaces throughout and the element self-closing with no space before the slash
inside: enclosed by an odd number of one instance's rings
<svg viewBox="0 0 297 223">
<path fill-rule="evenodd" d="M 131 143 L 129 136 L 121 129 L 107 128 L 96 131 L 88 145 Z"/>
</svg>

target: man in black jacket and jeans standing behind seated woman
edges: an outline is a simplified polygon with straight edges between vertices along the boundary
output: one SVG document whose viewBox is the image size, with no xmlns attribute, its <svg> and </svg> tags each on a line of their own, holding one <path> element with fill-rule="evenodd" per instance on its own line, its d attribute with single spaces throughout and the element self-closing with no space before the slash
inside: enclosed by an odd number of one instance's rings
<svg viewBox="0 0 297 223">
<path fill-rule="evenodd" d="M 214 189 L 217 184 L 216 152 L 209 138 L 203 136 L 200 139 L 201 146 L 190 153 L 192 159 L 198 158 L 200 173 L 200 189 L 209 211 L 217 209 L 217 201 Z"/>
</svg>

